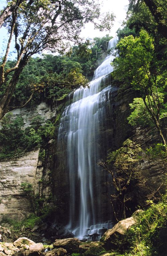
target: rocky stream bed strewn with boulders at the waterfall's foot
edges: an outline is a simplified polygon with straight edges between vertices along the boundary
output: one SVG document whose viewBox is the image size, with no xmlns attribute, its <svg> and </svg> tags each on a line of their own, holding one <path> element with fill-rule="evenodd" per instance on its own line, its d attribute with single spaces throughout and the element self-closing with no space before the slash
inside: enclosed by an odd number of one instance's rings
<svg viewBox="0 0 167 256">
<path fill-rule="evenodd" d="M 137 210 L 132 217 L 118 222 L 112 229 L 107 230 L 101 241 L 79 241 L 75 237 L 62 238 L 62 228 L 57 229 L 56 236 L 61 239 L 46 239 L 48 232 L 44 232 L 47 224 L 43 223 L 41 226 L 34 226 L 32 230 L 26 230 L 21 227 L 19 232 L 13 231 L 13 227 L 8 227 L 8 223 L 0 226 L 2 234 L 2 242 L 0 242 L 0 256 L 66 256 L 66 255 L 82 255 L 82 256 L 96 256 L 96 255 L 110 255 L 117 249 L 116 239 L 124 236 L 124 233 L 133 226 L 137 221 Z M 46 228 L 49 231 L 49 228 Z M 51 234 L 52 235 L 52 234 Z M 69 234 L 66 234 L 68 236 Z M 19 237 L 20 236 L 20 237 Z M 31 238 L 31 239 L 30 239 Z"/>
</svg>

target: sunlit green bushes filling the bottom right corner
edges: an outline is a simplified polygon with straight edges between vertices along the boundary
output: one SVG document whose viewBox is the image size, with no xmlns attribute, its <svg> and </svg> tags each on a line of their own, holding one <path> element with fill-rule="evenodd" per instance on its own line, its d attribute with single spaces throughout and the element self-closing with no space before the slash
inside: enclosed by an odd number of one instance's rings
<svg viewBox="0 0 167 256">
<path fill-rule="evenodd" d="M 128 230 L 126 238 L 132 255 L 164 255 L 167 229 L 166 199 L 167 196 L 164 195 L 157 204 L 150 201 L 150 207 L 141 212 L 138 223 Z"/>
</svg>

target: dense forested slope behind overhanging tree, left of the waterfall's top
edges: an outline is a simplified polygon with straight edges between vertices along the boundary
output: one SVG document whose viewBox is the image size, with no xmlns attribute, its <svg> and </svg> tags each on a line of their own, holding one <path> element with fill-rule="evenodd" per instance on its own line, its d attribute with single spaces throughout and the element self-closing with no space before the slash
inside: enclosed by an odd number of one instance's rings
<svg viewBox="0 0 167 256">
<path fill-rule="evenodd" d="M 83 44 L 73 46 L 70 52 L 63 55 L 45 55 L 41 58 L 30 58 L 19 76 L 14 90 L 11 105 L 23 105 L 33 91 L 36 91 L 30 104 L 38 104 L 41 100 L 61 100 L 71 90 L 86 86 L 92 79 L 97 66 L 107 54 L 108 42 L 112 37 L 106 35 L 87 40 Z M 7 61 L 6 68 L 12 68 L 15 61 Z M 84 77 L 84 76 L 85 77 Z M 10 81 L 10 74 L 8 75 Z M 0 98 L 5 92 L 1 86 Z"/>
</svg>

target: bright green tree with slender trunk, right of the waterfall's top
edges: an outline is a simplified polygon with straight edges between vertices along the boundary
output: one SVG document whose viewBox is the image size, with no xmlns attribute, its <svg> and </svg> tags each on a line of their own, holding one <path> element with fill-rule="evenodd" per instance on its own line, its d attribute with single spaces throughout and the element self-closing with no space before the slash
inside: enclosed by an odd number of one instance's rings
<svg viewBox="0 0 167 256">
<path fill-rule="evenodd" d="M 130 35 L 122 38 L 117 45 L 119 57 L 112 64 L 113 76 L 126 84 L 131 84 L 133 89 L 139 91 L 147 117 L 154 123 L 162 142 L 166 145 L 161 123 L 161 119 L 165 117 L 163 109 L 165 72 L 160 70 L 158 61 L 154 59 L 153 43 L 152 37 L 143 29 L 139 37 L 134 38 Z M 136 102 L 133 107 L 139 114 L 138 104 L 135 104 Z M 142 116 L 141 112 L 140 116 Z"/>
</svg>

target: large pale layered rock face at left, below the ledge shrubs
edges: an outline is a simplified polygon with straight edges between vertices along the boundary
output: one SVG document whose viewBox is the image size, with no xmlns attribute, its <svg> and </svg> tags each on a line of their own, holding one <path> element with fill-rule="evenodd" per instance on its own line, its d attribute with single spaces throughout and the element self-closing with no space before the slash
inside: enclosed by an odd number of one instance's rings
<svg viewBox="0 0 167 256">
<path fill-rule="evenodd" d="M 38 181 L 42 177 L 38 155 L 39 149 L 0 163 L 0 220 L 3 215 L 21 220 L 31 212 L 30 202 L 20 185 L 31 183 L 38 191 Z"/>
</svg>

